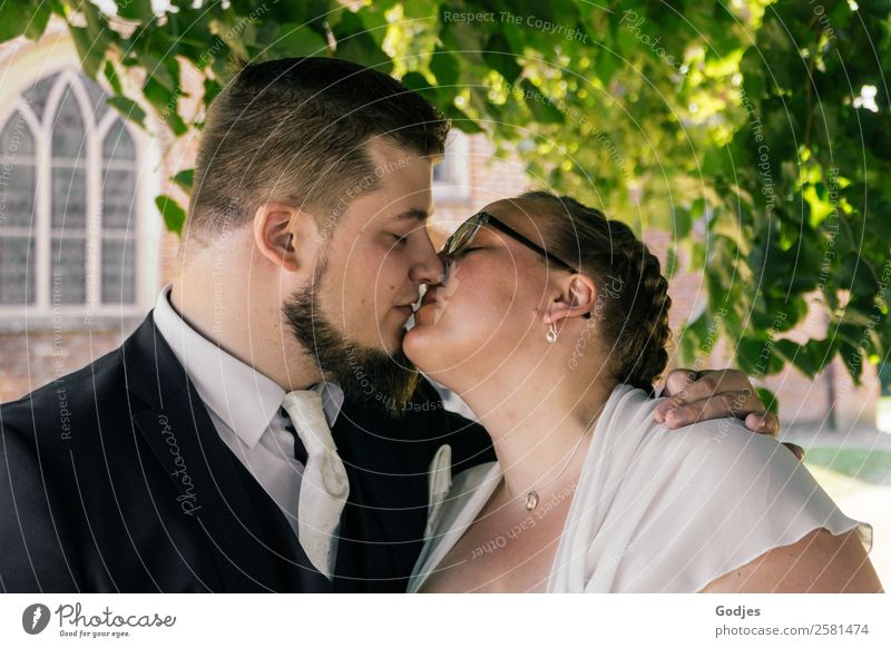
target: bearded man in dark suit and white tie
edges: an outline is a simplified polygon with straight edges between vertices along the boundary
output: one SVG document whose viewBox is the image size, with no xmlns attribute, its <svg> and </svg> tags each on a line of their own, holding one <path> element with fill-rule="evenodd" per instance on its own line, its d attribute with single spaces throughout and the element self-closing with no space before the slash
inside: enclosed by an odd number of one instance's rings
<svg viewBox="0 0 891 648">
<path fill-rule="evenodd" d="M 492 458 L 400 347 L 443 273 L 424 223 L 447 132 L 358 65 L 237 75 L 173 285 L 120 348 L 0 409 L 3 590 L 404 591 L 437 451 Z M 665 411 L 776 428 L 738 372 L 686 386 Z"/>
</svg>

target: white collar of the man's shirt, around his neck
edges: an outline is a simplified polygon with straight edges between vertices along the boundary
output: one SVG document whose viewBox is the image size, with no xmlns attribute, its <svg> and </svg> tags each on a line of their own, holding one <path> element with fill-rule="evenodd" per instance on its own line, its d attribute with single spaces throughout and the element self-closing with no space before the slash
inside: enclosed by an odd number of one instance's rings
<svg viewBox="0 0 891 648">
<path fill-rule="evenodd" d="M 277 414 L 285 391 L 189 326 L 170 305 L 170 288 L 165 286 L 155 303 L 155 326 L 204 404 L 253 449 Z M 310 389 L 322 392 L 322 409 L 329 426 L 333 426 L 343 406 L 340 385 L 321 382 Z"/>
</svg>

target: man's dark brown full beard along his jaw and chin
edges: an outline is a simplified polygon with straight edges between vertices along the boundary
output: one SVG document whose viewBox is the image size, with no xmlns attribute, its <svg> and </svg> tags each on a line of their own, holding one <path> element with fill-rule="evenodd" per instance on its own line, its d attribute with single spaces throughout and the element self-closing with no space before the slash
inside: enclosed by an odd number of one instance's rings
<svg viewBox="0 0 891 648">
<path fill-rule="evenodd" d="M 401 347 L 390 355 L 381 348 L 362 346 L 322 314 L 319 286 L 323 273 L 324 268 L 320 268 L 313 285 L 294 293 L 283 306 L 294 336 L 315 357 L 326 379 L 341 385 L 347 400 L 401 418 L 421 374 Z"/>
</svg>

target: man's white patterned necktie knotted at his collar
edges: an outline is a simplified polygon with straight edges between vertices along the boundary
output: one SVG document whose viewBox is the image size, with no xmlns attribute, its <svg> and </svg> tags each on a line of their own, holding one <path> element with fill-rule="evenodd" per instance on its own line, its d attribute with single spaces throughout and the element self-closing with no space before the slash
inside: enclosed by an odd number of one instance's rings
<svg viewBox="0 0 891 648">
<path fill-rule="evenodd" d="M 350 481 L 325 420 L 322 394 L 314 390 L 288 392 L 282 406 L 306 448 L 297 503 L 297 537 L 313 566 L 330 579 Z"/>
</svg>

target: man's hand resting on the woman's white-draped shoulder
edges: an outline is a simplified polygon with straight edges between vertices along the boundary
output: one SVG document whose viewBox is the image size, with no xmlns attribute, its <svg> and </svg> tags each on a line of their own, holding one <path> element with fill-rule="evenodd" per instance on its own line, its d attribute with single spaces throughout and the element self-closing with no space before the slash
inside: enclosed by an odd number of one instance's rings
<svg viewBox="0 0 891 648">
<path fill-rule="evenodd" d="M 676 369 L 665 380 L 654 419 L 672 430 L 711 419 L 735 416 L 758 434 L 780 433 L 780 419 L 768 412 L 754 385 L 743 372 L 735 369 L 693 371 Z M 793 443 L 785 445 L 797 456 L 804 450 Z"/>
</svg>

